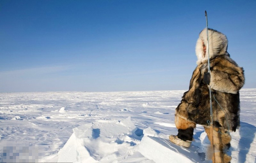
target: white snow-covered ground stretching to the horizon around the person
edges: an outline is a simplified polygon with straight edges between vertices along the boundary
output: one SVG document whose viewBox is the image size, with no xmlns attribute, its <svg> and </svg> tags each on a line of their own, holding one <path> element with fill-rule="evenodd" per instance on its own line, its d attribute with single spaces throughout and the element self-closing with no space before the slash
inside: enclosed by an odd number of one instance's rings
<svg viewBox="0 0 256 163">
<path fill-rule="evenodd" d="M 190 148 L 168 140 L 177 134 L 183 92 L 1 93 L 0 162 L 211 162 L 201 125 Z M 241 127 L 231 133 L 228 155 L 231 163 L 253 163 L 256 89 L 242 89 L 240 101 Z"/>
</svg>

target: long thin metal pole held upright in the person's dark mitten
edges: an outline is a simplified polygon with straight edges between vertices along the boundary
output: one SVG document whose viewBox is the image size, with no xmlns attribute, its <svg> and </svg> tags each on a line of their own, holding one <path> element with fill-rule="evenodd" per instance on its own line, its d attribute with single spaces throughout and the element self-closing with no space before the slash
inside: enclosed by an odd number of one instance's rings
<svg viewBox="0 0 256 163">
<path fill-rule="evenodd" d="M 208 20 L 207 20 L 207 12 L 205 11 L 205 19 L 206 19 L 206 37 L 207 37 L 207 53 L 208 53 L 208 73 L 210 74 L 210 52 L 209 52 L 209 35 L 208 35 Z M 212 147 L 213 147 L 213 156 L 212 156 L 212 163 L 215 163 L 215 150 L 214 150 L 214 143 L 213 143 L 213 114 L 212 114 L 212 92 L 211 86 L 209 85 L 209 94 L 210 94 L 210 112 L 211 112 L 211 124 L 210 132 L 212 132 Z"/>
</svg>

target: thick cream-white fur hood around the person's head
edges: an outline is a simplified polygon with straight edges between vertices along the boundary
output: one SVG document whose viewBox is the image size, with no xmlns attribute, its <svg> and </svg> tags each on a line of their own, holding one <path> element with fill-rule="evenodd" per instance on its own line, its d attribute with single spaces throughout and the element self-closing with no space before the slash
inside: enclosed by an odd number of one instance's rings
<svg viewBox="0 0 256 163">
<path fill-rule="evenodd" d="M 218 55 L 228 54 L 227 53 L 228 39 L 224 34 L 208 28 L 208 35 L 209 35 L 210 59 Z M 206 46 L 205 57 L 204 57 L 203 44 Z M 199 33 L 199 38 L 197 39 L 197 42 L 196 42 L 196 56 L 197 56 L 197 61 L 196 61 L 197 65 L 200 65 L 205 60 L 208 60 L 206 28 L 204 28 L 203 31 Z"/>
</svg>

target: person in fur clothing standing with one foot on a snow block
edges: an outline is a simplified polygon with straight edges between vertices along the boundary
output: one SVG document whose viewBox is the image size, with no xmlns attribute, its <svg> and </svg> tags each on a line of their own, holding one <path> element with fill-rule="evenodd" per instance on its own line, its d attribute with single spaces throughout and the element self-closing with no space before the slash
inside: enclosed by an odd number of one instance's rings
<svg viewBox="0 0 256 163">
<path fill-rule="evenodd" d="M 210 73 L 205 28 L 196 42 L 197 67 L 192 74 L 189 89 L 175 110 L 178 135 L 171 135 L 169 139 L 177 145 L 189 147 L 196 124 L 201 124 L 214 147 L 212 159 L 216 163 L 228 163 L 231 157 L 225 150 L 230 146 L 229 131 L 236 131 L 240 124 L 239 90 L 244 85 L 244 69 L 230 58 L 227 52 L 228 39 L 224 34 L 208 28 L 208 35 Z M 209 86 L 212 92 L 213 123 Z"/>
</svg>

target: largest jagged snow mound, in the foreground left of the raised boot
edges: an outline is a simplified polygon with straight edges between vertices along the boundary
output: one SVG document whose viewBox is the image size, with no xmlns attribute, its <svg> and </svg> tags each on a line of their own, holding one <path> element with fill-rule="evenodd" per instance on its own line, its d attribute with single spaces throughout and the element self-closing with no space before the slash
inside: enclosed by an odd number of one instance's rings
<svg viewBox="0 0 256 163">
<path fill-rule="evenodd" d="M 112 162 L 133 154 L 140 141 L 137 127 L 128 117 L 122 121 L 98 120 L 73 129 L 58 153 L 58 162 Z"/>
</svg>

